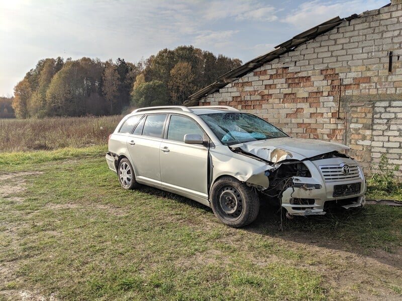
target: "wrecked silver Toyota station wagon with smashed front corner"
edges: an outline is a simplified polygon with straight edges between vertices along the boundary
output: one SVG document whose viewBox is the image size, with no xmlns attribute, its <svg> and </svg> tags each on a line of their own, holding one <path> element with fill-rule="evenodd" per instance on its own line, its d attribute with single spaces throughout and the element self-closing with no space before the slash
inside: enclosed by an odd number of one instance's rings
<svg viewBox="0 0 402 301">
<path fill-rule="evenodd" d="M 124 189 L 144 184 L 173 192 L 242 227 L 256 219 L 260 201 L 273 201 L 288 215 L 363 206 L 362 169 L 339 153 L 348 148 L 292 138 L 228 106 L 160 106 L 121 120 L 106 161 Z"/>
</svg>

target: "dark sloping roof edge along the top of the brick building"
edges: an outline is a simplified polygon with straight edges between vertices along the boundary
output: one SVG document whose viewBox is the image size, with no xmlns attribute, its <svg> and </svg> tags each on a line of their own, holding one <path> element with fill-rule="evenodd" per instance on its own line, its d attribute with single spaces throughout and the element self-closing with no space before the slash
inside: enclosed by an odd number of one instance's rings
<svg viewBox="0 0 402 301">
<path fill-rule="evenodd" d="M 190 95 L 188 97 L 188 100 L 184 104 L 185 105 L 194 105 L 195 101 L 198 101 L 199 99 L 218 91 L 219 89 L 225 87 L 228 83 L 231 83 L 231 82 L 237 80 L 238 78 L 246 75 L 250 71 L 257 69 L 258 67 L 260 67 L 276 58 L 279 58 L 282 54 L 293 50 L 297 46 L 304 44 L 307 41 L 310 41 L 310 40 L 316 38 L 317 36 L 330 31 L 334 27 L 341 24 L 343 21 L 349 21 L 349 20 L 352 20 L 352 19 L 355 19 L 358 17 L 359 16 L 356 14 L 354 14 L 348 18 L 344 18 L 344 19 L 336 17 L 336 18 L 328 20 L 316 27 L 313 27 L 297 36 L 294 36 L 290 40 L 276 46 L 274 50 L 272 50 L 266 54 L 263 54 L 259 57 L 256 57 L 255 59 L 252 59 L 251 61 L 245 63 L 244 65 L 242 65 L 236 69 L 233 69 L 233 70 L 225 73 L 224 75 L 220 76 L 215 83 Z"/>
</svg>

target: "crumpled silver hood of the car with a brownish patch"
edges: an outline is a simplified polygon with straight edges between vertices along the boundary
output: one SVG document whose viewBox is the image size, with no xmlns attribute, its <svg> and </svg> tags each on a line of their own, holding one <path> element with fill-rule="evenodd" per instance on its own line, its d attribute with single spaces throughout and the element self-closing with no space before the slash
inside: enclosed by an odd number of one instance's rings
<svg viewBox="0 0 402 301">
<path fill-rule="evenodd" d="M 243 152 L 273 163 L 283 160 L 304 160 L 334 150 L 349 149 L 348 146 L 339 143 L 292 137 L 251 141 L 230 147 L 240 148 Z"/>
</svg>

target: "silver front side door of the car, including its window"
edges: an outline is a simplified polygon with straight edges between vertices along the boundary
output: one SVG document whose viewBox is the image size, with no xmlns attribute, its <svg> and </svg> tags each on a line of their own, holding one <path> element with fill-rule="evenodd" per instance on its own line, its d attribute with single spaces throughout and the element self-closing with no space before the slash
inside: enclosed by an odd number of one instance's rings
<svg viewBox="0 0 402 301">
<path fill-rule="evenodd" d="M 191 199 L 208 199 L 208 147 L 184 143 L 185 134 L 208 136 L 197 122 L 172 114 L 165 139 L 160 144 L 160 170 L 163 186 Z"/>
</svg>

